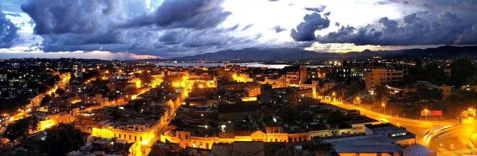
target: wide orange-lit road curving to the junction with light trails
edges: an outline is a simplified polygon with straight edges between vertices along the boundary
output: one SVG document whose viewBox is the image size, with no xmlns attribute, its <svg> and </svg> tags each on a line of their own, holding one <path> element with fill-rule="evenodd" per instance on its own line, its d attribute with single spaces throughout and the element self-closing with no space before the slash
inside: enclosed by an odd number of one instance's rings
<svg viewBox="0 0 477 156">
<path fill-rule="evenodd" d="M 327 101 L 324 101 L 327 102 Z M 457 123 L 455 120 L 448 121 L 424 121 L 392 117 L 389 115 L 372 112 L 367 109 L 356 107 L 352 104 L 328 102 L 346 109 L 358 109 L 362 115 L 375 120 L 385 119 L 396 126 L 403 126 L 407 131 L 416 134 L 418 143 L 435 151 L 438 156 L 463 156 L 477 154 L 474 143 L 477 140 L 477 121 L 464 121 Z M 424 131 L 439 125 L 453 125 L 443 131 L 431 135 L 428 141 L 424 140 Z M 443 142 L 443 143 L 442 143 Z"/>
</svg>

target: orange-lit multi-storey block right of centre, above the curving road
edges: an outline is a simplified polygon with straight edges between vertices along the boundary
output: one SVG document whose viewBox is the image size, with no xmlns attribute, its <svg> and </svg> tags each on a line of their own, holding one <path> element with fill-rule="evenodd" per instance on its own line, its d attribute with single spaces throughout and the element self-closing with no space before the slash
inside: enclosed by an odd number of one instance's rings
<svg viewBox="0 0 477 156">
<path fill-rule="evenodd" d="M 374 91 L 376 86 L 385 86 L 397 84 L 403 81 L 403 71 L 386 70 L 386 69 L 371 69 L 365 72 L 366 90 Z"/>
</svg>

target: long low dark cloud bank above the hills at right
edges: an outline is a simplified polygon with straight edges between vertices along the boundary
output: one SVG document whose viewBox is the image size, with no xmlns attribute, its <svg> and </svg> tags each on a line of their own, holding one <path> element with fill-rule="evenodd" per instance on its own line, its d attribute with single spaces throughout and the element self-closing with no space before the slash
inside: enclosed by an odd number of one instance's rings
<svg viewBox="0 0 477 156">
<path fill-rule="evenodd" d="M 320 43 L 354 43 L 355 45 L 465 45 L 477 44 L 476 23 L 466 22 L 456 14 L 441 12 L 436 20 L 422 20 L 416 14 L 403 18 L 402 24 L 383 17 L 380 29 L 341 27 L 337 32 L 318 36 Z"/>
</svg>

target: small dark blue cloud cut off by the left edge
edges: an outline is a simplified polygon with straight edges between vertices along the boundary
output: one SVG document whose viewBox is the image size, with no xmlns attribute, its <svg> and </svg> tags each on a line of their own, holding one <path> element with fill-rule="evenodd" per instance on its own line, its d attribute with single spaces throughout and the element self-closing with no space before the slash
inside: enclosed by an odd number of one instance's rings
<svg viewBox="0 0 477 156">
<path fill-rule="evenodd" d="M 0 48 L 10 48 L 18 39 L 18 27 L 5 17 L 0 5 Z"/>
</svg>

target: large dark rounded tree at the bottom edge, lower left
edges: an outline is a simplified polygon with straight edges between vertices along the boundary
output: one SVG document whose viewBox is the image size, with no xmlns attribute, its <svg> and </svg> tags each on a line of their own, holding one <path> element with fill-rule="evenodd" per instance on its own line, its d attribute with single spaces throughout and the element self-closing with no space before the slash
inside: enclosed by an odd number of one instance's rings
<svg viewBox="0 0 477 156">
<path fill-rule="evenodd" d="M 58 123 L 46 129 L 43 146 L 44 154 L 65 156 L 68 152 L 77 151 L 84 144 L 83 132 L 74 128 L 73 124 Z"/>
</svg>

